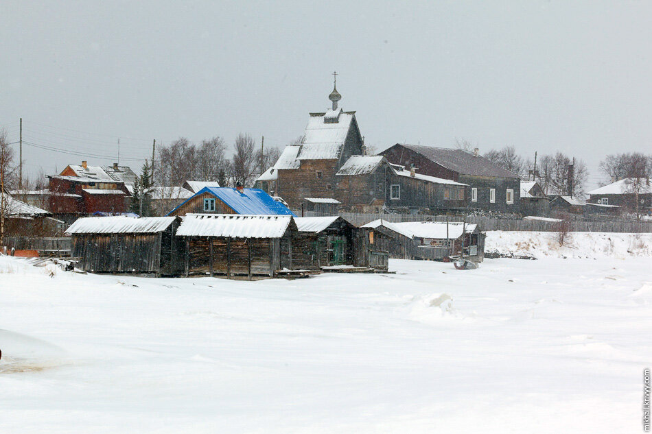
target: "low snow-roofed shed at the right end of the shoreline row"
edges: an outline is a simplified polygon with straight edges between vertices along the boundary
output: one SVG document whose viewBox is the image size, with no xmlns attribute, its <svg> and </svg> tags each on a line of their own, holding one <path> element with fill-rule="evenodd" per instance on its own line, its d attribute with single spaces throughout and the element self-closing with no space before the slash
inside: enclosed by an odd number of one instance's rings
<svg viewBox="0 0 652 434">
<path fill-rule="evenodd" d="M 485 259 L 485 234 L 478 225 L 461 221 L 404 221 L 393 226 L 411 233 L 415 240 L 415 259 L 442 261 L 463 254 L 470 261 Z"/>
</svg>

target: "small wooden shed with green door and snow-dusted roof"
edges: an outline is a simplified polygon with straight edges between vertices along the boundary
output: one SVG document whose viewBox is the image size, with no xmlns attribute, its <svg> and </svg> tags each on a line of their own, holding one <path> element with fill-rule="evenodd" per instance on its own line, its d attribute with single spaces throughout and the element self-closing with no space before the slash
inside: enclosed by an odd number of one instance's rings
<svg viewBox="0 0 652 434">
<path fill-rule="evenodd" d="M 353 226 L 342 217 L 295 217 L 292 265 L 296 269 L 319 269 L 353 265 Z"/>
</svg>

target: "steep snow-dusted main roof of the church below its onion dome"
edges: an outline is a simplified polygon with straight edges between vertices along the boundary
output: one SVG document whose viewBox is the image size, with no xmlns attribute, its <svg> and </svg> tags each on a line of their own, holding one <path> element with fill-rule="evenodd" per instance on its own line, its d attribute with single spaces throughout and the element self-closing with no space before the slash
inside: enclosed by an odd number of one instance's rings
<svg viewBox="0 0 652 434">
<path fill-rule="evenodd" d="M 337 113 L 337 115 L 336 115 Z M 299 160 L 337 160 L 355 119 L 355 112 L 310 113 Z M 327 118 L 328 114 L 328 118 Z"/>
</svg>

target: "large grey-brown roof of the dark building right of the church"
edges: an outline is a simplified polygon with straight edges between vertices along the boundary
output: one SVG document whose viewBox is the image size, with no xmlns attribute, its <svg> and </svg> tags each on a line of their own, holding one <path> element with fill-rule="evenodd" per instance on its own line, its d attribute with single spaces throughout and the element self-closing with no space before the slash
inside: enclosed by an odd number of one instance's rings
<svg viewBox="0 0 652 434">
<path fill-rule="evenodd" d="M 514 173 L 493 164 L 483 156 L 476 156 L 464 149 L 448 147 L 429 147 L 397 143 L 457 173 L 469 176 L 493 176 L 498 178 L 518 178 Z M 384 153 L 384 152 L 383 152 Z"/>
</svg>

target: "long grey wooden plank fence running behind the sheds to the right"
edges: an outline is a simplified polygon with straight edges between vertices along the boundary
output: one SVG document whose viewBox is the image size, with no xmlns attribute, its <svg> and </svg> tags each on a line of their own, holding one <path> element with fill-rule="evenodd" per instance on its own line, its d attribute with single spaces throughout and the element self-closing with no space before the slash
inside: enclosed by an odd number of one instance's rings
<svg viewBox="0 0 652 434">
<path fill-rule="evenodd" d="M 301 210 L 294 210 L 296 215 L 301 215 Z M 327 214 L 314 211 L 304 211 L 305 217 L 320 217 Z M 356 226 L 362 226 L 369 221 L 384 219 L 386 221 L 462 221 L 478 224 L 480 230 L 533 230 L 541 232 L 557 231 L 557 222 L 546 220 L 523 219 L 498 219 L 483 215 L 411 215 L 411 214 L 366 214 L 366 213 L 339 213 L 343 218 Z M 571 232 L 652 232 L 652 222 L 633 220 L 570 221 Z"/>
</svg>

